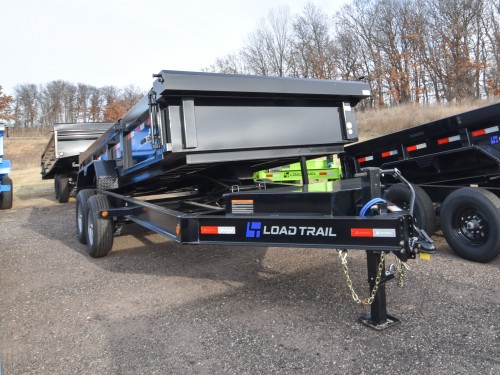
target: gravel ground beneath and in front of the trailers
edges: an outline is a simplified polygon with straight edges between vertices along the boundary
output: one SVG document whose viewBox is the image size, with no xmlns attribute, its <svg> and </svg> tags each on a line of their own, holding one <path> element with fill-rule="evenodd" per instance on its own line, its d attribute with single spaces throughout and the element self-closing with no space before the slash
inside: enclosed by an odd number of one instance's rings
<svg viewBox="0 0 500 375">
<path fill-rule="evenodd" d="M 0 211 L 2 375 L 500 373 L 500 259 L 465 261 L 439 235 L 404 288 L 388 283 L 401 324 L 377 332 L 336 251 L 181 246 L 131 225 L 92 259 L 74 200 L 47 202 Z M 349 261 L 364 296 L 364 252 Z"/>
</svg>

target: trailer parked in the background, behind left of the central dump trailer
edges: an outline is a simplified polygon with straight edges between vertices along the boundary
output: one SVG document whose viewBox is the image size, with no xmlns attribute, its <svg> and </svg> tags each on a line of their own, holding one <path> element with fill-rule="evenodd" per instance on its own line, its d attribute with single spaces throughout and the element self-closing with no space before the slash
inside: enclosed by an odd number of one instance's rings
<svg viewBox="0 0 500 375">
<path fill-rule="evenodd" d="M 43 180 L 54 179 L 56 199 L 68 202 L 80 170 L 78 158 L 113 122 L 56 123 L 41 157 Z"/>
</svg>

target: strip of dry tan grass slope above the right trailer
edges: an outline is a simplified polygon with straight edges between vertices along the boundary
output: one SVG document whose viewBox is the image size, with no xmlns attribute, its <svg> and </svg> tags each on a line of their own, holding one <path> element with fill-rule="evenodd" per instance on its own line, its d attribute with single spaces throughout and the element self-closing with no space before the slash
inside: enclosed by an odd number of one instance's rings
<svg viewBox="0 0 500 375">
<path fill-rule="evenodd" d="M 358 112 L 356 116 L 359 124 L 360 140 L 370 139 L 411 126 L 467 112 L 499 101 L 500 98 L 494 101 L 434 104 L 423 107 L 408 104 Z"/>
</svg>

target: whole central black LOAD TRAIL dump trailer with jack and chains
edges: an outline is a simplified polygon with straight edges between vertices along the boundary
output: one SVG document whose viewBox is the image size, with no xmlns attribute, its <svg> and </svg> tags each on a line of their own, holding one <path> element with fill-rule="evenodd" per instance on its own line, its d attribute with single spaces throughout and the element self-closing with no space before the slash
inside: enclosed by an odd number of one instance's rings
<svg viewBox="0 0 500 375">
<path fill-rule="evenodd" d="M 366 250 L 371 314 L 387 315 L 385 255 L 432 252 L 412 216 L 381 204 L 380 175 L 308 184 L 307 160 L 357 139 L 361 82 L 162 71 L 150 92 L 80 156 L 76 227 L 103 257 L 134 222 L 183 244 Z M 300 162 L 301 186 L 255 182 L 253 172 Z M 403 263 L 398 263 L 403 266 Z M 404 269 L 401 268 L 401 269 Z M 401 275 L 402 275 L 401 271 Z M 401 276 L 400 275 L 400 276 Z M 367 288 L 368 289 L 368 288 Z"/>
</svg>

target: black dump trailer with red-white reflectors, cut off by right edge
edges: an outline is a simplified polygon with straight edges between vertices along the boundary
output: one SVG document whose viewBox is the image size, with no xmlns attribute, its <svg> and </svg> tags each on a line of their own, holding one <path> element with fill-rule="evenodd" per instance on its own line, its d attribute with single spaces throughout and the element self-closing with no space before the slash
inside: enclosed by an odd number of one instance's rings
<svg viewBox="0 0 500 375">
<path fill-rule="evenodd" d="M 349 145 L 344 173 L 398 169 L 417 192 L 415 218 L 429 234 L 439 215 L 461 257 L 488 262 L 500 254 L 500 103 Z M 385 197 L 404 206 L 407 187 L 390 177 Z"/>
</svg>

